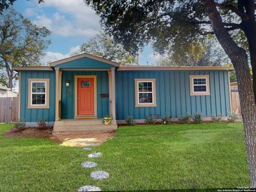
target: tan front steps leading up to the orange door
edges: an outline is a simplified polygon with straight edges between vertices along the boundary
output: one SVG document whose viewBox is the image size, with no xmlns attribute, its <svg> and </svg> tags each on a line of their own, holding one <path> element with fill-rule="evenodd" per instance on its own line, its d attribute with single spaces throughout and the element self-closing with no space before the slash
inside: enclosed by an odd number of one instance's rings
<svg viewBox="0 0 256 192">
<path fill-rule="evenodd" d="M 116 130 L 117 124 L 115 120 L 110 125 L 105 125 L 102 123 L 102 119 L 61 119 L 54 122 L 52 135 Z"/>
</svg>

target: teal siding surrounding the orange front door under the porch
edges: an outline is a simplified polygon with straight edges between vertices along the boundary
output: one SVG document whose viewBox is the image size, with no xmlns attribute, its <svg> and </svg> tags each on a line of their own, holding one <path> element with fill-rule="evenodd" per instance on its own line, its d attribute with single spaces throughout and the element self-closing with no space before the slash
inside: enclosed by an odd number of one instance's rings
<svg viewBox="0 0 256 192">
<path fill-rule="evenodd" d="M 101 97 L 100 94 L 108 94 L 107 71 L 63 71 L 61 85 L 61 119 L 74 119 L 75 116 L 75 77 L 74 76 L 97 76 L 97 117 L 109 114 L 109 98 Z M 69 87 L 66 87 L 66 81 Z"/>
</svg>

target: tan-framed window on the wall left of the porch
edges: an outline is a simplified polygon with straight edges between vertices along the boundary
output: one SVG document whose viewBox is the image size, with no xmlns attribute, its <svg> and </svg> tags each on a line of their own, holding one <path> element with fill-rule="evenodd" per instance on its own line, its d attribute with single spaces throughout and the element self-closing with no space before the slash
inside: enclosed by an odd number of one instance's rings
<svg viewBox="0 0 256 192">
<path fill-rule="evenodd" d="M 50 79 L 28 79 L 28 108 L 49 108 Z"/>
</svg>

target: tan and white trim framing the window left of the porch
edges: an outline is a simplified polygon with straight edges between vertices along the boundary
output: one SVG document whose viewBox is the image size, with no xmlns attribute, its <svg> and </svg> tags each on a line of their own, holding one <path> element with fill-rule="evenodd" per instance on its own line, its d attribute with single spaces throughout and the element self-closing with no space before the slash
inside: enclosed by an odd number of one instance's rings
<svg viewBox="0 0 256 192">
<path fill-rule="evenodd" d="M 45 82 L 45 104 L 32 104 L 32 94 L 33 94 L 32 82 Z M 36 79 L 36 78 L 28 79 L 27 94 L 28 94 L 28 108 L 50 108 L 50 79 Z M 41 94 L 41 93 L 37 93 L 37 94 Z"/>
</svg>

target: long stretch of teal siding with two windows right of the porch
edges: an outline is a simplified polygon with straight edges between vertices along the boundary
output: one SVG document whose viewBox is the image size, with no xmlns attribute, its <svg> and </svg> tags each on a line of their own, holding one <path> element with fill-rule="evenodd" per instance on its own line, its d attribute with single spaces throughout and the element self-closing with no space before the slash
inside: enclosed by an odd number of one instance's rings
<svg viewBox="0 0 256 192">
<path fill-rule="evenodd" d="M 209 74 L 209 96 L 190 96 L 189 75 Z M 156 107 L 135 107 L 135 78 L 156 79 Z M 145 119 L 158 114 L 179 118 L 202 113 L 203 116 L 230 113 L 228 71 L 116 71 L 116 119 L 127 115 Z"/>
</svg>

